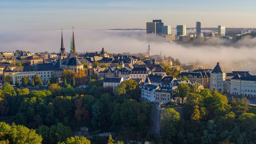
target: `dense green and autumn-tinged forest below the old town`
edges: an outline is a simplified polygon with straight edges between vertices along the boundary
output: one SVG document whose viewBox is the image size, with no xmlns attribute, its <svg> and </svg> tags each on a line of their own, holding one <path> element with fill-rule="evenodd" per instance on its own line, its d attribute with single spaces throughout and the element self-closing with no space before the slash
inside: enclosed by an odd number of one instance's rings
<svg viewBox="0 0 256 144">
<path fill-rule="evenodd" d="M 0 143 L 256 143 L 256 108 L 244 97 L 228 100 L 217 91 L 181 84 L 174 94 L 184 98 L 185 115 L 166 108 L 161 117 L 164 136 L 156 137 L 148 131 L 153 104 L 140 100 L 134 80 L 124 81 L 114 91 L 102 85 L 98 77 L 76 90 L 69 84 L 51 83 L 42 91 L 4 84 Z M 74 136 L 81 127 L 87 127 L 92 137 Z M 112 132 L 113 138 L 96 136 L 102 132 Z"/>
</svg>

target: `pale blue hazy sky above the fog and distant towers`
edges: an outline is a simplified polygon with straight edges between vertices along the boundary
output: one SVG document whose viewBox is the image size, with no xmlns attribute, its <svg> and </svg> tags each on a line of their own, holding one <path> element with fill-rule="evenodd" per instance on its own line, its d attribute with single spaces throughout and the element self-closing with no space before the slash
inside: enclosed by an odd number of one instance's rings
<svg viewBox="0 0 256 144">
<path fill-rule="evenodd" d="M 172 28 L 255 28 L 255 0 L 1 0 L 0 31 L 97 30 L 146 28 L 162 19 Z"/>
</svg>

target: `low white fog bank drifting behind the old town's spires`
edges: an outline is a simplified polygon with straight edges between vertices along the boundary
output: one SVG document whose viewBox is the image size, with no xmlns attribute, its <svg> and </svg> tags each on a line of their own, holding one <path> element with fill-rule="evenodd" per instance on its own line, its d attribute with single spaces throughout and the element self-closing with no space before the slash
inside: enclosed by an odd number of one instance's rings
<svg viewBox="0 0 256 144">
<path fill-rule="evenodd" d="M 173 30 L 173 29 L 172 29 Z M 173 30 L 174 31 L 174 30 Z M 193 29 L 191 30 L 193 32 Z M 164 42 L 163 37 L 146 35 L 144 30 L 74 31 L 78 52 L 100 51 L 122 53 L 146 52 L 150 44 L 152 54 L 179 58 L 181 63 L 196 62 L 197 66 L 213 68 L 221 63 L 225 71 L 248 70 L 256 74 L 256 38 L 244 37 L 234 44 L 219 38 L 208 39 L 200 44 Z M 172 32 L 173 33 L 173 32 Z M 66 51 L 70 50 L 72 31 L 63 31 Z M 61 31 L 34 31 L 0 33 L 0 51 L 25 50 L 31 52 L 59 52 Z"/>
</svg>

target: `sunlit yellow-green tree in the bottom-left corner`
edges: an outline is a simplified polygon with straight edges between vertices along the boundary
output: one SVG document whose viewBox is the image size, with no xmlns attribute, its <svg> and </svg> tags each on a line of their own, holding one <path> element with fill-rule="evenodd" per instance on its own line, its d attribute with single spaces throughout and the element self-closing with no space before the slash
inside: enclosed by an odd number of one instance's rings
<svg viewBox="0 0 256 144">
<path fill-rule="evenodd" d="M 28 129 L 23 125 L 12 125 L 0 122 L 1 140 L 9 141 L 10 143 L 33 143 L 40 144 L 42 142 L 41 135 L 36 134 L 33 129 Z M 2 143 L 2 142 L 1 142 Z"/>
</svg>

